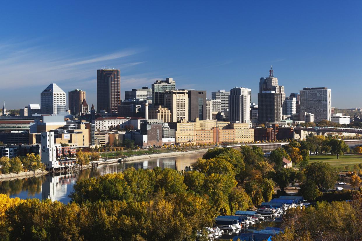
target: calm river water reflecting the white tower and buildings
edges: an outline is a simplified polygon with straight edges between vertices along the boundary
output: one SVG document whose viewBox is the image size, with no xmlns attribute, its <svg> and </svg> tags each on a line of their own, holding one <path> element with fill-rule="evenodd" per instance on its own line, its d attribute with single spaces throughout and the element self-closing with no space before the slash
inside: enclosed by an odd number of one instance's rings
<svg viewBox="0 0 362 241">
<path fill-rule="evenodd" d="M 126 168 L 153 169 L 154 167 L 172 168 L 178 171 L 184 170 L 185 166 L 190 166 L 198 158 L 202 158 L 203 153 L 189 154 L 175 157 L 153 158 L 139 160 L 121 164 L 101 165 L 95 169 L 84 169 L 80 172 L 41 177 L 28 177 L 12 181 L 0 181 L 0 193 L 5 193 L 10 197 L 26 198 L 49 198 L 52 201 L 67 203 L 70 201 L 68 195 L 73 191 L 73 185 L 79 178 L 98 177 L 107 173 L 122 172 Z"/>
</svg>

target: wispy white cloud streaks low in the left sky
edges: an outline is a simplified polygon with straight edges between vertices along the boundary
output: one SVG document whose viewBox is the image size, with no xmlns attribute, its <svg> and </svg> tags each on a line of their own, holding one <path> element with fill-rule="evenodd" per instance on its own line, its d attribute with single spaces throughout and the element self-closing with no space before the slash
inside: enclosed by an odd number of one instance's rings
<svg viewBox="0 0 362 241">
<path fill-rule="evenodd" d="M 96 69 L 100 66 L 112 65 L 114 68 L 125 70 L 145 63 L 130 61 L 131 56 L 139 52 L 141 51 L 129 49 L 75 58 L 74 52 L 51 50 L 47 46 L 29 47 L 29 44 L 22 43 L 0 43 L 1 88 L 11 90 L 29 86 L 46 86 L 49 83 L 58 83 L 66 90 L 68 86 L 76 84 L 82 87 L 94 79 Z"/>
</svg>

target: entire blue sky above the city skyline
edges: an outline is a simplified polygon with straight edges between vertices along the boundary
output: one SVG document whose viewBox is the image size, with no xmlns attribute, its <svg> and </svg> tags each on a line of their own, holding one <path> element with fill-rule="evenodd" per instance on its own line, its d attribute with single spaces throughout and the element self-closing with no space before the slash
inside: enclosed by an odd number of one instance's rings
<svg viewBox="0 0 362 241">
<path fill-rule="evenodd" d="M 8 1 L 0 9 L 0 101 L 40 103 L 57 83 L 96 104 L 96 69 L 121 70 L 121 93 L 172 77 L 178 89 L 332 89 L 362 107 L 362 1 Z M 68 100 L 67 100 L 68 101 Z"/>
</svg>

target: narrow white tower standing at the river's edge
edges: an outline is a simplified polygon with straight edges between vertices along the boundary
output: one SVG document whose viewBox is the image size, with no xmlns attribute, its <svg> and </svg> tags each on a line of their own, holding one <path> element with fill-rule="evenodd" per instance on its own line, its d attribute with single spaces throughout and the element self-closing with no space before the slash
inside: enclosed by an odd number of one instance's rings
<svg viewBox="0 0 362 241">
<path fill-rule="evenodd" d="M 45 168 L 51 169 L 51 168 L 60 167 L 59 162 L 56 160 L 57 145 L 54 144 L 54 132 L 42 132 L 41 144 L 42 144 L 42 163 L 45 164 Z"/>
</svg>

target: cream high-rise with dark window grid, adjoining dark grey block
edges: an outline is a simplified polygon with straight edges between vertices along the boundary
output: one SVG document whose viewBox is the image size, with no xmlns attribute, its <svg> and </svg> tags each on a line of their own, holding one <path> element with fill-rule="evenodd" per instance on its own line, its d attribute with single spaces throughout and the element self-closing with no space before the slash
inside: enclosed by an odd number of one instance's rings
<svg viewBox="0 0 362 241">
<path fill-rule="evenodd" d="M 164 103 L 172 114 L 172 122 L 189 120 L 188 90 L 171 90 L 164 93 Z"/>
</svg>

